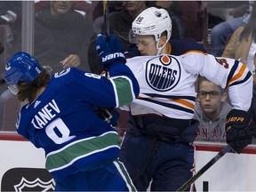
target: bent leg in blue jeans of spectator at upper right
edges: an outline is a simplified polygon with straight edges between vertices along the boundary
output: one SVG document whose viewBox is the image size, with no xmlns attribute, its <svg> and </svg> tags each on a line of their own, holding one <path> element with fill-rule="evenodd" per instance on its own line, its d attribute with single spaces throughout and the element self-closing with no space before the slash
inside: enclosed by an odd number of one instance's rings
<svg viewBox="0 0 256 192">
<path fill-rule="evenodd" d="M 252 4 L 254 1 L 249 1 L 249 10 L 252 12 Z M 214 26 L 211 32 L 211 44 L 212 54 L 216 57 L 220 57 L 227 44 L 228 36 L 231 36 L 236 28 L 244 26 L 250 19 L 251 14 L 244 14 L 244 17 L 234 18 L 232 20 L 226 20 L 220 24 Z"/>
</svg>

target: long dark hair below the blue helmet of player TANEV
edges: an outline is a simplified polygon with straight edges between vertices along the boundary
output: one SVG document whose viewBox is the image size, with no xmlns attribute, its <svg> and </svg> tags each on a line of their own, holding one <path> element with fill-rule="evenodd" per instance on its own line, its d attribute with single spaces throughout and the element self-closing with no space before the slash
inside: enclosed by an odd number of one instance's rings
<svg viewBox="0 0 256 192">
<path fill-rule="evenodd" d="M 41 87 L 46 87 L 49 83 L 50 75 L 44 69 L 39 76 L 31 83 L 19 82 L 18 84 L 18 99 L 21 101 L 28 100 L 29 103 L 36 99 L 36 92 Z"/>
</svg>

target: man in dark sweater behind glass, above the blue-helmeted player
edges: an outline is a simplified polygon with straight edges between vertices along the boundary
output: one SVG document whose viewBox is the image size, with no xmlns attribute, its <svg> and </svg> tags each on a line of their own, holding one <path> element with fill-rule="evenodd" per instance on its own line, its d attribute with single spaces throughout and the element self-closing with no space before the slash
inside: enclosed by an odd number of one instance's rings
<svg viewBox="0 0 256 192">
<path fill-rule="evenodd" d="M 74 1 L 49 1 L 36 12 L 34 55 L 53 73 L 63 68 L 88 70 L 87 44 L 92 36 L 92 22 L 74 9 Z M 19 50 L 18 50 L 19 51 Z"/>
</svg>

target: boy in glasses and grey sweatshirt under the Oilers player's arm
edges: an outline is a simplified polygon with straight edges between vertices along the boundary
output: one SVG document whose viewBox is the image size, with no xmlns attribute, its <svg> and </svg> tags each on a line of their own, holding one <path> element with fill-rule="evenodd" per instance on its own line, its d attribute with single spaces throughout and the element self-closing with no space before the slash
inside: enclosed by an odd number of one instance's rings
<svg viewBox="0 0 256 192">
<path fill-rule="evenodd" d="M 194 118 L 199 121 L 196 140 L 226 141 L 225 123 L 232 106 L 226 101 L 227 92 L 204 76 L 197 82 Z"/>
</svg>

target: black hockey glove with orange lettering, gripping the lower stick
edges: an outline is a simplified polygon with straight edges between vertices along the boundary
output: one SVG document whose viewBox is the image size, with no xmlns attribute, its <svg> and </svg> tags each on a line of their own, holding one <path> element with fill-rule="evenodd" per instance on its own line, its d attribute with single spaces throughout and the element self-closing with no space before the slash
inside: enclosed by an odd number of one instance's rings
<svg viewBox="0 0 256 192">
<path fill-rule="evenodd" d="M 240 154 L 243 148 L 252 143 L 253 129 L 254 124 L 248 112 L 232 109 L 228 113 L 226 137 L 234 152 Z"/>
</svg>

